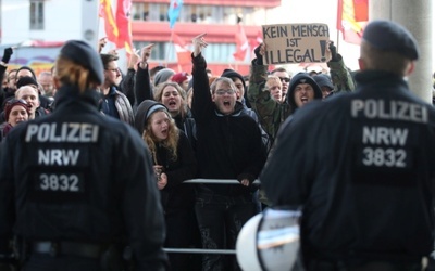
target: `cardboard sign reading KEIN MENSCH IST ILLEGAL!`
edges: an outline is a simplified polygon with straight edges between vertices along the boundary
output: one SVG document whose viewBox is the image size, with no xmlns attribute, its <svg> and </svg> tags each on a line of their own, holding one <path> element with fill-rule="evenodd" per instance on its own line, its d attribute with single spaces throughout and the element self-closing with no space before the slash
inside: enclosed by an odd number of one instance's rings
<svg viewBox="0 0 435 271">
<path fill-rule="evenodd" d="M 326 24 L 263 25 L 264 64 L 326 62 Z"/>
</svg>

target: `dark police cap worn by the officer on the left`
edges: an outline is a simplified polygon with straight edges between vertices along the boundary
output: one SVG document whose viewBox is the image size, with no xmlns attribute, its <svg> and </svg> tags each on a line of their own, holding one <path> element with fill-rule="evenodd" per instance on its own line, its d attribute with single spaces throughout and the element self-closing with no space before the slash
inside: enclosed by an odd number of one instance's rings
<svg viewBox="0 0 435 271">
<path fill-rule="evenodd" d="M 104 81 L 104 68 L 97 51 L 82 40 L 70 40 L 62 47 L 61 56 L 64 56 L 80 66 L 89 69 L 91 77 L 98 83 Z"/>
</svg>

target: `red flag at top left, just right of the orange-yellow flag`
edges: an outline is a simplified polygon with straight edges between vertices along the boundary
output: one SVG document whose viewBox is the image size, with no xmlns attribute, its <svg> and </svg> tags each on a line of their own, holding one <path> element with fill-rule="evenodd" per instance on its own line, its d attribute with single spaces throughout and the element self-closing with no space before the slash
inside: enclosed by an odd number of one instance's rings
<svg viewBox="0 0 435 271">
<path fill-rule="evenodd" d="M 117 36 L 116 48 L 125 48 L 128 55 L 133 52 L 130 8 L 132 0 L 117 0 L 116 25 L 120 35 Z"/>
</svg>

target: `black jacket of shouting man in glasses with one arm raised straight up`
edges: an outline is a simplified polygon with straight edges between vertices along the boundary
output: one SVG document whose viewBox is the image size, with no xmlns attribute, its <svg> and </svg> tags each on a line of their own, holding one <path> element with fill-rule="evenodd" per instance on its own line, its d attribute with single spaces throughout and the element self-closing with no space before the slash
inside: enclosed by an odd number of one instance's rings
<svg viewBox="0 0 435 271">
<path fill-rule="evenodd" d="M 236 103 L 231 115 L 220 113 L 212 101 L 207 63 L 202 55 L 194 62 L 191 112 L 197 125 L 199 177 L 206 179 L 249 179 L 253 181 L 265 162 L 261 132 L 250 116 Z M 216 194 L 232 196 L 250 193 L 250 188 L 232 184 L 202 184 Z"/>
</svg>

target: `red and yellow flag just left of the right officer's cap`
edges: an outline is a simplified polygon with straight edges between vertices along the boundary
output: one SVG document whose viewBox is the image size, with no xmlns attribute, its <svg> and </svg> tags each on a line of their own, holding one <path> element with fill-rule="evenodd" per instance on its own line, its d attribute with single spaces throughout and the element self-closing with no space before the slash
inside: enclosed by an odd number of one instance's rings
<svg viewBox="0 0 435 271">
<path fill-rule="evenodd" d="M 369 0 L 338 0 L 337 30 L 346 42 L 360 44 L 363 28 L 368 23 Z"/>
</svg>

